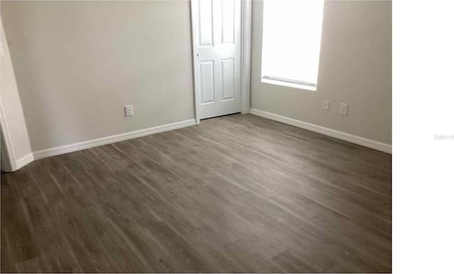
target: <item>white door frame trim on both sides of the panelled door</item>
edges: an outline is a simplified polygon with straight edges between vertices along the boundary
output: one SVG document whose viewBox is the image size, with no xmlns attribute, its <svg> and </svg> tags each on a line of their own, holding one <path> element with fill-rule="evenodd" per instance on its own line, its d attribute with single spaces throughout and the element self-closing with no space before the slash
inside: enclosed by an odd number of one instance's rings
<svg viewBox="0 0 454 274">
<path fill-rule="evenodd" d="M 192 75 L 194 80 L 194 116 L 196 125 L 200 123 L 200 83 L 197 81 L 197 28 L 196 5 L 198 0 L 191 0 L 191 30 L 192 30 Z M 250 113 L 250 46 L 252 27 L 252 0 L 241 0 L 241 113 Z"/>
</svg>

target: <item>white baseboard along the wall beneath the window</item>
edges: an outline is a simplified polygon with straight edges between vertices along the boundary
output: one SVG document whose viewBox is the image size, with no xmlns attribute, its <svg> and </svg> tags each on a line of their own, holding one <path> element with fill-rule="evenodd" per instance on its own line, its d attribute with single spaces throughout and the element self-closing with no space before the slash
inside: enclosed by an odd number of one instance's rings
<svg viewBox="0 0 454 274">
<path fill-rule="evenodd" d="M 389 154 L 392 153 L 391 144 L 377 142 L 372 139 L 367 139 L 367 138 L 360 137 L 357 135 L 351 135 L 349 133 L 341 132 L 338 130 L 333 130 L 328 127 L 321 127 L 320 125 L 314 125 L 309 122 L 303 122 L 301 120 L 288 118 L 288 117 L 277 115 L 274 113 L 268 113 L 266 111 L 258 110 L 255 108 L 251 108 L 250 113 L 253 115 L 263 117 L 263 118 L 270 119 L 270 120 L 275 120 L 277 122 L 282 122 L 287 125 L 293 125 L 294 127 L 301 127 L 304 130 L 310 130 L 310 131 L 317 132 L 317 133 L 320 133 L 323 135 L 327 135 L 329 137 L 351 142 L 353 144 L 359 144 L 360 146 L 363 146 L 363 147 L 369 147 L 370 149 L 376 149 L 376 150 L 379 150 L 380 152 L 386 152 Z"/>
</svg>

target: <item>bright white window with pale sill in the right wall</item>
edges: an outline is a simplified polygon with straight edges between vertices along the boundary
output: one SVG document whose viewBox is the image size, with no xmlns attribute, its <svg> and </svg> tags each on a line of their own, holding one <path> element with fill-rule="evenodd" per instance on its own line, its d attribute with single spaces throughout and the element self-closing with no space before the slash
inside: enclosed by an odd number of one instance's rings
<svg viewBox="0 0 454 274">
<path fill-rule="evenodd" d="M 265 0 L 262 82 L 316 90 L 323 0 Z"/>
</svg>

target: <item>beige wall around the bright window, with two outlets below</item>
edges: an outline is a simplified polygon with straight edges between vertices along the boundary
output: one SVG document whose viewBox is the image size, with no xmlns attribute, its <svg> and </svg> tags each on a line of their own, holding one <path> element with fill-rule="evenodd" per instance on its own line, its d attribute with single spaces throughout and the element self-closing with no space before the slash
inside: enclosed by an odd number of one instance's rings
<svg viewBox="0 0 454 274">
<path fill-rule="evenodd" d="M 391 144 L 391 6 L 326 1 L 318 89 L 305 91 L 260 82 L 262 1 L 253 1 L 251 107 Z M 348 116 L 338 114 L 341 103 Z"/>
</svg>

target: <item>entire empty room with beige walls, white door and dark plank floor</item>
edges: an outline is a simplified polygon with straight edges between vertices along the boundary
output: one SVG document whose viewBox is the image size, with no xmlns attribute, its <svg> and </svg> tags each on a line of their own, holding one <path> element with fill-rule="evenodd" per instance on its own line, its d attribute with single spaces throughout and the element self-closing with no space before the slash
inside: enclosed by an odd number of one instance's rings
<svg viewBox="0 0 454 274">
<path fill-rule="evenodd" d="M 2 273 L 391 273 L 391 1 L 1 1 Z"/>
</svg>

